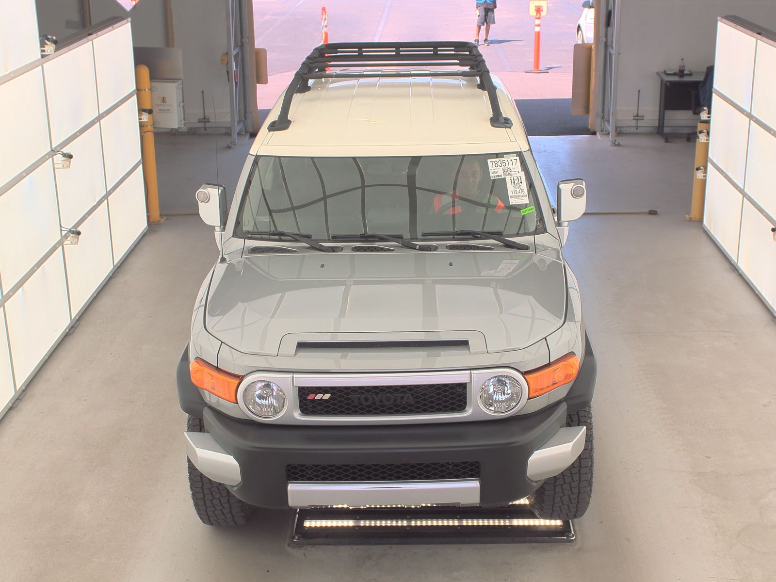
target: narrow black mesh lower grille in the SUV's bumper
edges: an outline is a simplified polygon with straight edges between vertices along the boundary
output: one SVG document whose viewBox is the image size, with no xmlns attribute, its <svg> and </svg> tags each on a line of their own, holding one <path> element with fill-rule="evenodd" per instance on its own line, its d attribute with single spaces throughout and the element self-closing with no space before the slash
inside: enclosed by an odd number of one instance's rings
<svg viewBox="0 0 776 582">
<path fill-rule="evenodd" d="M 439 481 L 478 479 L 480 462 L 402 462 L 373 465 L 286 465 L 286 480 L 316 483 L 342 481 Z"/>
</svg>

